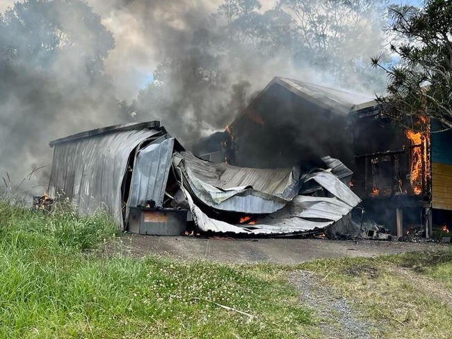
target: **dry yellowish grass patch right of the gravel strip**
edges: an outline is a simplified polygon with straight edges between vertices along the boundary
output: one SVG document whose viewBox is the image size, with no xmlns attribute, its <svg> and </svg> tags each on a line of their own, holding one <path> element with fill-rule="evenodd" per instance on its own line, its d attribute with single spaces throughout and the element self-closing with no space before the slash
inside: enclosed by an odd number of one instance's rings
<svg viewBox="0 0 452 339">
<path fill-rule="evenodd" d="M 373 338 L 452 338 L 452 250 L 298 265 L 346 297 Z"/>
</svg>

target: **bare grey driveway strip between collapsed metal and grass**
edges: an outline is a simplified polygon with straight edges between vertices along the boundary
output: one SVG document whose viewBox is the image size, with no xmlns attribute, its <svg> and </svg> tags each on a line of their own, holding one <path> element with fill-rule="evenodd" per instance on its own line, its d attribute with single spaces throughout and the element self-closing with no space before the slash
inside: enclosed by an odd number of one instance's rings
<svg viewBox="0 0 452 339">
<path fill-rule="evenodd" d="M 108 245 L 108 251 L 131 256 L 158 255 L 184 260 L 209 260 L 223 263 L 294 264 L 317 258 L 379 256 L 408 251 L 434 251 L 444 245 L 375 240 L 327 239 L 231 239 L 163 237 L 125 233 L 121 242 Z"/>
</svg>

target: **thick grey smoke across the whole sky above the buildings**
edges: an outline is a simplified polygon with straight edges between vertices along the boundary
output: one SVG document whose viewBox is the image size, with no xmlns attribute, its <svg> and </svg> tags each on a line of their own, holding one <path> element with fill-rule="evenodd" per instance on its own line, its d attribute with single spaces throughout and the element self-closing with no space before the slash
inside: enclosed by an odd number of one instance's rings
<svg viewBox="0 0 452 339">
<path fill-rule="evenodd" d="M 1 68 L 0 174 L 9 171 L 17 182 L 33 167 L 49 169 L 50 140 L 128 122 L 131 117 L 117 100 L 132 104 L 136 99 L 127 112 L 136 110 L 139 120 L 160 120 L 186 142 L 224 129 L 275 75 L 346 83 L 352 90 L 373 93 L 375 80 L 382 78 L 362 69 L 382 43 L 378 6 L 366 8 L 378 1 L 358 1 L 362 10 L 342 22 L 347 26 L 353 21 L 354 31 L 331 37 L 324 51 L 300 44 L 300 35 L 315 32 L 299 29 L 306 24 L 300 11 L 324 1 L 266 0 L 260 7 L 248 6 L 257 2 L 88 0 L 90 13 L 75 0 L 25 1 L 35 4 L 26 15 L 29 26 L 9 23 L 9 40 L 0 34 L 0 52 L 8 43 L 17 46 L 6 53 L 5 65 L 11 66 Z M 43 14 L 43 3 L 60 5 Z M 228 11 L 234 3 L 244 6 Z M 0 0 L 2 11 L 13 5 Z M 47 26 L 39 26 L 43 17 Z M 54 46 L 45 40 L 51 22 L 59 38 Z M 29 49 L 32 42 L 35 49 Z M 315 64 L 320 61 L 322 65 Z M 360 63 L 364 67 L 353 72 Z M 47 185 L 47 178 L 38 183 Z"/>
</svg>

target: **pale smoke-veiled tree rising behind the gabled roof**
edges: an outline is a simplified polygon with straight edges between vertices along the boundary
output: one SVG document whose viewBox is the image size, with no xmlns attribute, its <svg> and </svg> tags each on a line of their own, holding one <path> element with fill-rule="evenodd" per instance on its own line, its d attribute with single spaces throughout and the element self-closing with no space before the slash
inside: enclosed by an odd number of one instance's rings
<svg viewBox="0 0 452 339">
<path fill-rule="evenodd" d="M 338 85 L 353 88 L 362 82 L 373 89 L 382 88 L 382 77 L 371 72 L 367 60 L 382 47 L 386 6 L 385 0 L 278 2 L 293 18 L 296 60 L 327 70 Z"/>
</svg>

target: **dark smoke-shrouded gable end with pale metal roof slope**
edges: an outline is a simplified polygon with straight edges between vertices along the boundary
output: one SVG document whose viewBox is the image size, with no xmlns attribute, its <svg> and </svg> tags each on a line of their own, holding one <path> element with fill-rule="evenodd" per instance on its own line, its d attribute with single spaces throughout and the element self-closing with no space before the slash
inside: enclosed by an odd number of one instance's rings
<svg viewBox="0 0 452 339">
<path fill-rule="evenodd" d="M 371 98 L 275 77 L 227 130 L 227 163 L 250 167 L 300 165 L 309 170 L 323 156 L 353 168 L 347 115 Z"/>
</svg>

